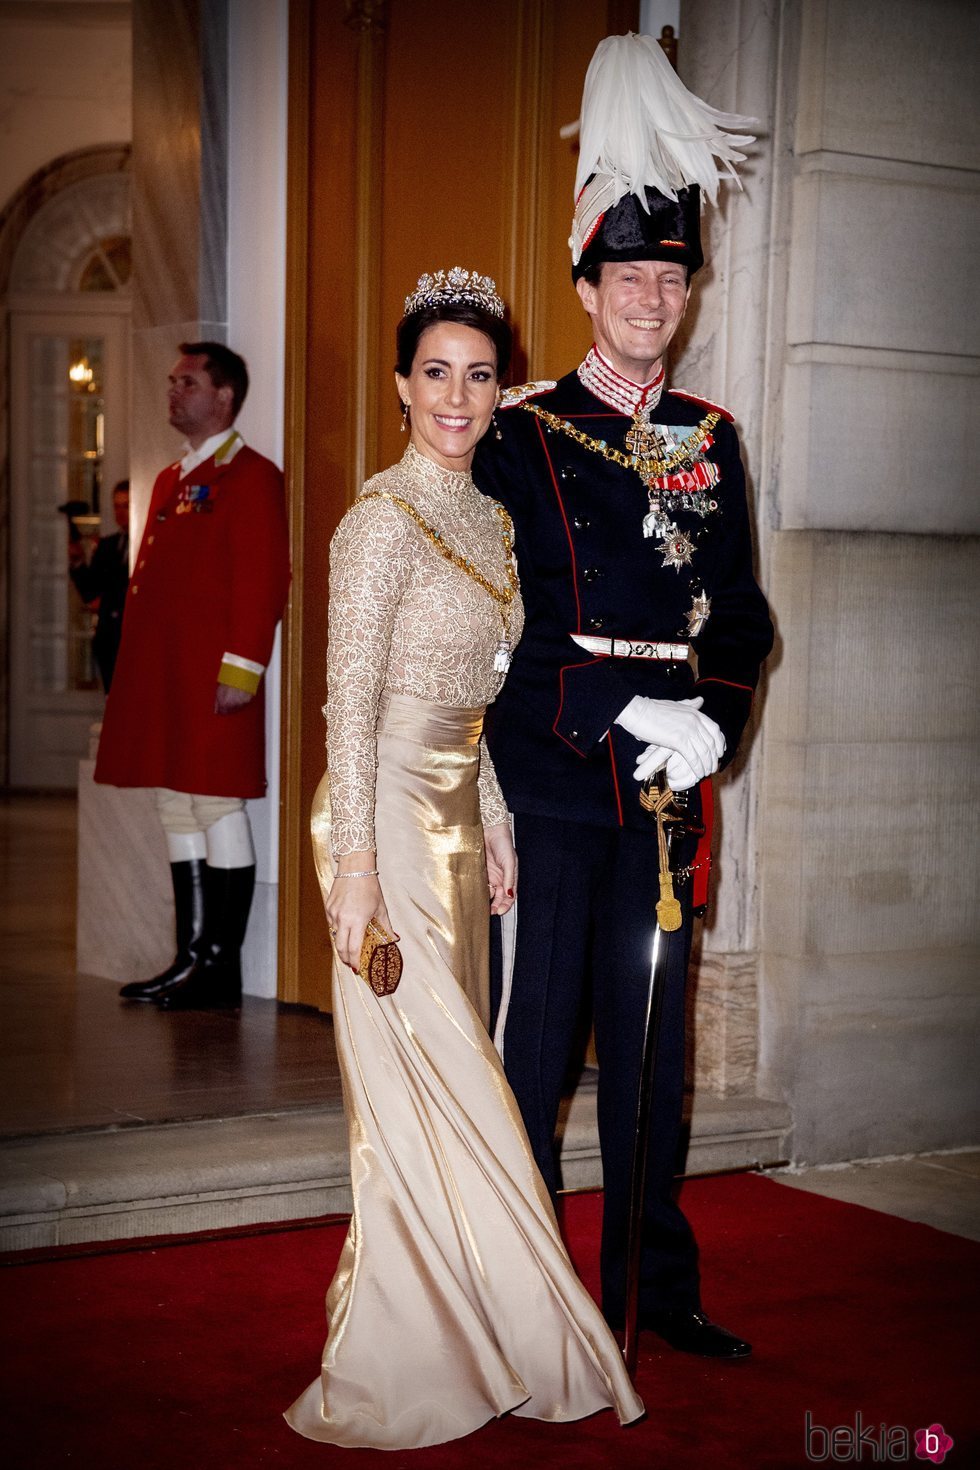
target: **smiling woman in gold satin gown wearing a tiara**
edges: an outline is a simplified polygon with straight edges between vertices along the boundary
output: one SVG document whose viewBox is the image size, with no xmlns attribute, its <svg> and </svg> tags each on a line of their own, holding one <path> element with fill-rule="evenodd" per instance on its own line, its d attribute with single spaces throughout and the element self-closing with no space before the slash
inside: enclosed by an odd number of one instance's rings
<svg viewBox="0 0 980 1470">
<path fill-rule="evenodd" d="M 310 1439 L 404 1449 L 513 1411 L 644 1405 L 558 1235 L 486 1033 L 488 913 L 514 901 L 507 808 L 480 738 L 522 631 L 513 532 L 470 478 L 510 329 L 494 282 L 423 276 L 398 328 L 411 440 L 331 547 L 328 775 L 313 807 L 354 1211 Z M 404 973 L 357 975 L 370 917 Z"/>
</svg>

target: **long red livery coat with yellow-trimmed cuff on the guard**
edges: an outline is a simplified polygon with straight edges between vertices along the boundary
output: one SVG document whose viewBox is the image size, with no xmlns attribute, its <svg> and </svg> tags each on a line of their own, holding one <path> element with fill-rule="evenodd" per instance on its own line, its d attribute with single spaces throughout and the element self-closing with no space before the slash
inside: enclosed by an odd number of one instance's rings
<svg viewBox="0 0 980 1470">
<path fill-rule="evenodd" d="M 220 454 L 220 450 L 219 450 Z M 213 797 L 266 789 L 263 684 L 215 713 L 222 659 L 266 666 L 289 587 L 282 473 L 242 445 L 153 487 L 96 781 Z M 231 681 L 226 681 L 231 682 Z"/>
</svg>

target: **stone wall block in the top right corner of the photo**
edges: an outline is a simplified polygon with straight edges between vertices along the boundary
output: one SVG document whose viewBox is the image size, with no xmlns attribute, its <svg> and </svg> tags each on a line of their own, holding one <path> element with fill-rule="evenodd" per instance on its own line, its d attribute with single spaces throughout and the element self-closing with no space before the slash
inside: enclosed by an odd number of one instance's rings
<svg viewBox="0 0 980 1470">
<path fill-rule="evenodd" d="M 805 0 L 796 151 L 980 169 L 976 0 Z"/>
</svg>

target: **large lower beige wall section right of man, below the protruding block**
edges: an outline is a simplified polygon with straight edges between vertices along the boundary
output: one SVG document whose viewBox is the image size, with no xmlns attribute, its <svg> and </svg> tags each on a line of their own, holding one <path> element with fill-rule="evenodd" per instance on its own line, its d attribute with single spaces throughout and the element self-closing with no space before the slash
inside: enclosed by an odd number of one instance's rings
<svg viewBox="0 0 980 1470">
<path fill-rule="evenodd" d="M 973 1136 L 977 550 L 773 537 L 760 1088 L 798 1160 Z"/>
</svg>

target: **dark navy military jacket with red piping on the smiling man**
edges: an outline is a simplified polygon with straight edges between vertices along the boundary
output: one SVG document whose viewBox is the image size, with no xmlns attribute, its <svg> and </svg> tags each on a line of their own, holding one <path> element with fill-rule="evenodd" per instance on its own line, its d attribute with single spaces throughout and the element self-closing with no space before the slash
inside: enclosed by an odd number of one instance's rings
<svg viewBox="0 0 980 1470">
<path fill-rule="evenodd" d="M 550 391 L 498 412 L 480 441 L 473 476 L 514 520 L 526 606 L 525 634 L 502 692 L 486 716 L 486 738 L 511 811 L 599 825 L 648 826 L 633 766 L 639 741 L 616 716 L 635 694 L 682 700 L 702 695 L 721 728 L 723 764 L 749 716 L 760 666 L 773 642 L 768 609 L 752 573 L 752 542 L 738 435 L 718 416 L 705 459 L 718 466 L 717 509 L 704 517 L 671 510 L 695 542 L 689 564 L 664 564 L 661 537 L 644 537 L 648 491 L 633 469 L 616 465 L 532 407 L 570 422 L 592 440 L 624 450 L 632 419 L 569 373 Z M 652 422 L 702 423 L 713 404 L 664 392 Z M 723 410 L 720 410 L 723 415 Z M 691 637 L 698 594 L 710 598 L 704 628 Z M 617 659 L 586 653 L 572 634 L 691 642 L 688 662 Z"/>
</svg>

